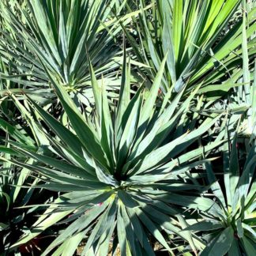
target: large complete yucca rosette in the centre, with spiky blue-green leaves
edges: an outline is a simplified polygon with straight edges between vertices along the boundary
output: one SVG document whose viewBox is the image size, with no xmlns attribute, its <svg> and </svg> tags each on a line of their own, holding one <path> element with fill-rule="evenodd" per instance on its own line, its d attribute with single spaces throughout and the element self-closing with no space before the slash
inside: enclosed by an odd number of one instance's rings
<svg viewBox="0 0 256 256">
<path fill-rule="evenodd" d="M 28 99 L 33 116 L 38 120 L 35 122 L 41 123 L 45 133 L 51 131 L 52 135 L 46 135 L 51 144 L 36 152 L 10 141 L 15 152 L 34 162 L 6 160 L 40 175 L 43 183 L 33 188 L 62 193 L 12 249 L 27 243 L 56 222 L 68 226 L 43 254 L 58 247 L 55 255 L 63 252 L 71 255 L 84 239 L 82 254 L 107 255 L 112 243 L 112 251 L 119 244 L 122 255 L 154 255 L 149 242 L 152 238 L 174 254 L 164 233 L 179 235 L 195 253 L 205 247 L 196 235 L 181 232 L 186 227 L 183 212 L 190 208 L 213 214 L 221 212 L 215 201 L 201 197 L 205 187 L 196 182 L 190 170 L 208 162 L 209 159 L 195 160 L 222 141 L 194 149 L 188 147 L 220 116 L 208 118 L 197 129 L 180 134 L 182 120 L 196 90 L 181 105 L 183 91 L 171 103 L 165 99 L 163 104 L 156 106 L 165 62 L 166 58 L 150 92 L 145 93 L 141 87 L 132 96 L 130 66 L 126 66 L 125 58 L 119 101 L 114 109 L 109 106 L 104 80 L 98 85 L 91 67 L 96 102 L 96 114 L 92 119 L 79 111 L 66 90 L 46 69 L 70 125 L 63 126 Z"/>
</svg>

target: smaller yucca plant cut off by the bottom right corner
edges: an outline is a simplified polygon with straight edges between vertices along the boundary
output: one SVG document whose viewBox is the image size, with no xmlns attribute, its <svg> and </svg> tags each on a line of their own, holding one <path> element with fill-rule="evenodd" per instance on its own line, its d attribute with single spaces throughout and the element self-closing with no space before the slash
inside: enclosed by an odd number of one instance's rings
<svg viewBox="0 0 256 256">
<path fill-rule="evenodd" d="M 203 232 L 202 239 L 207 247 L 201 255 L 254 255 L 256 254 L 255 233 L 255 140 L 248 145 L 247 158 L 239 157 L 237 134 L 229 147 L 224 146 L 224 171 L 217 178 L 214 165 L 207 163 L 207 179 L 212 183 L 211 190 L 222 216 L 201 213 L 201 221 L 186 228 L 194 232 Z M 218 176 L 216 176 L 218 175 Z M 224 182 L 224 186 L 221 183 Z"/>
</svg>

